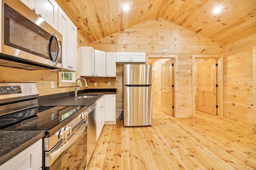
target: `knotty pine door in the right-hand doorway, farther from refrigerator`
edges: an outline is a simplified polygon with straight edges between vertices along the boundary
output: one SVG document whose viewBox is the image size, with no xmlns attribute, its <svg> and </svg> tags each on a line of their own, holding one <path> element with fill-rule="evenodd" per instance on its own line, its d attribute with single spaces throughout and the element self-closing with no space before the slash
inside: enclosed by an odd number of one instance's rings
<svg viewBox="0 0 256 170">
<path fill-rule="evenodd" d="M 196 64 L 196 110 L 217 115 L 217 59 Z"/>
</svg>

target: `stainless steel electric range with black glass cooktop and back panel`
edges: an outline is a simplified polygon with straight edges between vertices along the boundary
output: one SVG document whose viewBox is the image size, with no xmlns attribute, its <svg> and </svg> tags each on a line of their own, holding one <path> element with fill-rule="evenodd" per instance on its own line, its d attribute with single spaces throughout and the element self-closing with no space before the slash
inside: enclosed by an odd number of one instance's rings
<svg viewBox="0 0 256 170">
<path fill-rule="evenodd" d="M 40 106 L 38 96 L 36 83 L 0 83 L 0 130 L 45 130 L 43 169 L 54 169 L 66 149 L 81 145 L 76 141 L 82 136 L 87 139 L 87 106 Z"/>
</svg>

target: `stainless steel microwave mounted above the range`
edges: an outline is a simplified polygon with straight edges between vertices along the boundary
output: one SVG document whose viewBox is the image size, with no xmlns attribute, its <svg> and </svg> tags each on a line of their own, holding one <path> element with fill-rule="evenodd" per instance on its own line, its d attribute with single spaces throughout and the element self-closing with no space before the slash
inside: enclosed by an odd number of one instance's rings
<svg viewBox="0 0 256 170">
<path fill-rule="evenodd" d="M 62 35 L 20 0 L 2 0 L 0 66 L 61 70 Z"/>
</svg>

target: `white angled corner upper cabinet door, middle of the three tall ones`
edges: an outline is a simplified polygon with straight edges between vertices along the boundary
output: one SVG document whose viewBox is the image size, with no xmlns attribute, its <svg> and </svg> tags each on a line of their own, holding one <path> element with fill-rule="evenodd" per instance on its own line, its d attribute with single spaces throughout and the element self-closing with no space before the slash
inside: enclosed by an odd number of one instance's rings
<svg viewBox="0 0 256 170">
<path fill-rule="evenodd" d="M 95 76 L 106 77 L 106 52 L 95 50 L 94 62 Z"/>
</svg>

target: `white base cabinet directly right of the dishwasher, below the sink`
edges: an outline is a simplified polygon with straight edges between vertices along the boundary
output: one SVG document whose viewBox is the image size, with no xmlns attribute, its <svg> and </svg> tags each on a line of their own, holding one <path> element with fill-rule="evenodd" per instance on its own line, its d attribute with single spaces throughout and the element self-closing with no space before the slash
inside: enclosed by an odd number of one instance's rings
<svg viewBox="0 0 256 170">
<path fill-rule="evenodd" d="M 96 139 L 98 141 L 102 128 L 105 124 L 105 95 L 96 101 L 95 113 L 96 113 L 96 133 L 97 133 Z"/>
</svg>

